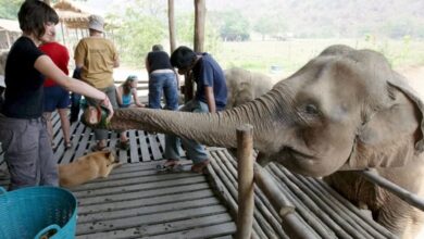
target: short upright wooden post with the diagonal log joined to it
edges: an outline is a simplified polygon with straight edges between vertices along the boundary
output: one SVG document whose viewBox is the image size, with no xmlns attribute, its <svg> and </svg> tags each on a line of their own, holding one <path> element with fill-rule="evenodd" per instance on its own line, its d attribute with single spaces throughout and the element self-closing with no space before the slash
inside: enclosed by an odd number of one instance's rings
<svg viewBox="0 0 424 239">
<path fill-rule="evenodd" d="M 238 214 L 236 238 L 252 237 L 254 184 L 264 192 L 282 217 L 282 227 L 290 238 L 316 238 L 295 214 L 295 206 L 277 189 L 271 175 L 253 161 L 253 127 L 244 125 L 237 129 L 238 160 Z M 254 165 L 254 166 L 253 166 Z"/>
</svg>

